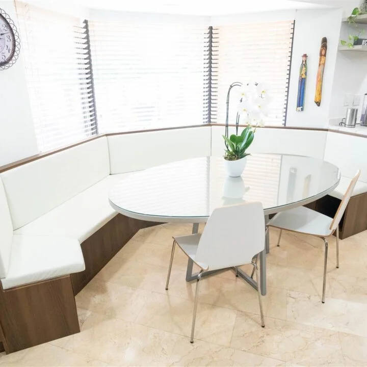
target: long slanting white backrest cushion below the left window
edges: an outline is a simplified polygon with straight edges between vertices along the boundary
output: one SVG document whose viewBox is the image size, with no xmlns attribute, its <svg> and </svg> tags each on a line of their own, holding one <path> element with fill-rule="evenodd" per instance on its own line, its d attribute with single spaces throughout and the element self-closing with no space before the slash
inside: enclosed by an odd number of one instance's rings
<svg viewBox="0 0 367 367">
<path fill-rule="evenodd" d="M 110 173 L 106 137 L 48 155 L 0 174 L 17 229 Z"/>
</svg>

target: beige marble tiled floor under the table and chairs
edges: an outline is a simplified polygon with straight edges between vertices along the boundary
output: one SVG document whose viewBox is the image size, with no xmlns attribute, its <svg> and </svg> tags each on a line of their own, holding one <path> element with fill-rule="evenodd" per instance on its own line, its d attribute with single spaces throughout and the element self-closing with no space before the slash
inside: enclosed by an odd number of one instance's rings
<svg viewBox="0 0 367 367">
<path fill-rule="evenodd" d="M 367 231 L 329 246 L 321 303 L 323 242 L 271 231 L 265 329 L 256 292 L 232 271 L 202 280 L 195 343 L 189 342 L 194 284 L 173 234 L 190 225 L 138 232 L 76 296 L 81 333 L 0 356 L 7 366 L 367 366 Z M 249 269 L 244 267 L 244 269 Z"/>
</svg>

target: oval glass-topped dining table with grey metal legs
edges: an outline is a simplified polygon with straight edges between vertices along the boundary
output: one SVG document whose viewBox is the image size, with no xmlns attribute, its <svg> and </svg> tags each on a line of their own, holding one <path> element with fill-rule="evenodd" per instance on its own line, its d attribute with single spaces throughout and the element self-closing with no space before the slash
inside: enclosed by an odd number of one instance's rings
<svg viewBox="0 0 367 367">
<path fill-rule="evenodd" d="M 193 223 L 193 233 L 196 233 L 199 223 L 206 222 L 216 207 L 260 201 L 267 222 L 270 214 L 327 195 L 338 185 L 339 179 L 336 166 L 306 156 L 251 154 L 241 177 L 226 174 L 223 158 L 207 156 L 133 172 L 110 190 L 109 200 L 118 213 L 127 217 Z M 265 250 L 260 253 L 263 295 L 266 294 L 267 252 L 269 234 Z M 192 268 L 189 260 L 187 281 L 196 279 Z M 246 273 L 239 270 L 238 275 L 257 289 L 256 282 Z"/>
</svg>

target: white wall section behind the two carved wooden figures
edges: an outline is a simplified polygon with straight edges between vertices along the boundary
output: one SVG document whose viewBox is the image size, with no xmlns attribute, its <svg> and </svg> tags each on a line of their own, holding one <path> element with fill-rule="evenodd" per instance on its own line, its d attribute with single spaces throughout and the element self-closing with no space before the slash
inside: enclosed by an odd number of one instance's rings
<svg viewBox="0 0 367 367">
<path fill-rule="evenodd" d="M 340 9 L 296 12 L 287 126 L 326 127 L 328 125 L 341 21 L 342 10 Z M 327 38 L 328 44 L 321 106 L 318 107 L 314 103 L 314 93 L 322 37 Z M 297 112 L 299 68 L 303 54 L 308 55 L 305 109 Z"/>
</svg>

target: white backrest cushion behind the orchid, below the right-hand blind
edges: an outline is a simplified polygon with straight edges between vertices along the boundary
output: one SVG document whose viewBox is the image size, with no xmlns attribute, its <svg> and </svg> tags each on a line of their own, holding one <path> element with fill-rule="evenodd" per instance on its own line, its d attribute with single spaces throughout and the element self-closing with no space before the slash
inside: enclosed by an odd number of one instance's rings
<svg viewBox="0 0 367 367">
<path fill-rule="evenodd" d="M 229 135 L 234 133 L 234 127 L 230 128 Z M 222 135 L 224 126 L 212 126 L 212 155 L 224 155 Z M 249 152 L 298 154 L 323 159 L 326 135 L 323 130 L 258 128 Z"/>
</svg>

